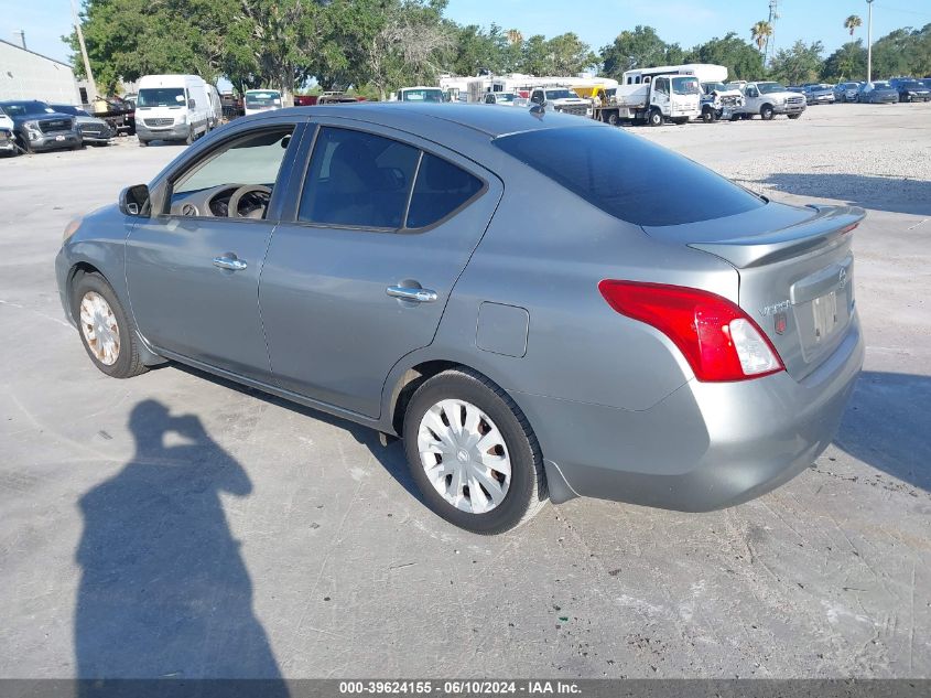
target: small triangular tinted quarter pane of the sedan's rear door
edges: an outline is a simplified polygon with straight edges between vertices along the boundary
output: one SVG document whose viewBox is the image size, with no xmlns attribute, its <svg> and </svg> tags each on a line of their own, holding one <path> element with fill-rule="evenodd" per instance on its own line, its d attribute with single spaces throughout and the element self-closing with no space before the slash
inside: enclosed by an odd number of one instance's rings
<svg viewBox="0 0 931 698">
<path fill-rule="evenodd" d="M 404 227 L 433 225 L 469 201 L 481 187 L 481 180 L 462 168 L 423 153 Z"/>
</svg>

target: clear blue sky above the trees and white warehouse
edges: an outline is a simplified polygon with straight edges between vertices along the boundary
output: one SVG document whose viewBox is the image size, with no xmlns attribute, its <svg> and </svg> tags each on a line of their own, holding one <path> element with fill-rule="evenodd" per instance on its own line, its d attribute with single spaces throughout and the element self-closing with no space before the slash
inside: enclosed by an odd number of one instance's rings
<svg viewBox="0 0 931 698">
<path fill-rule="evenodd" d="M 749 28 L 767 18 L 768 8 L 769 0 L 451 0 L 446 13 L 463 23 L 516 28 L 524 36 L 574 31 L 597 50 L 637 24 L 654 26 L 683 47 L 728 31 L 749 39 Z M 931 22 L 931 0 L 875 0 L 873 8 L 874 39 Z M 843 28 L 848 14 L 864 19 L 857 35 L 866 35 L 865 0 L 780 0 L 780 12 L 777 47 L 820 40 L 831 52 L 848 39 Z M 69 0 L 0 0 L 0 39 L 15 42 L 13 32 L 25 30 L 28 46 L 53 58 L 68 58 L 59 37 L 71 31 L 71 21 Z"/>
</svg>

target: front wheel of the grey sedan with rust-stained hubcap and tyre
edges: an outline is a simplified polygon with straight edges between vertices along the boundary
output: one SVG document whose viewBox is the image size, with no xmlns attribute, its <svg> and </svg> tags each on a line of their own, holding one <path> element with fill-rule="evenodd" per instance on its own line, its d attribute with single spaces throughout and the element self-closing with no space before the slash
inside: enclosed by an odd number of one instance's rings
<svg viewBox="0 0 931 698">
<path fill-rule="evenodd" d="M 113 289 L 99 273 L 84 273 L 72 288 L 72 313 L 90 361 L 113 378 L 145 373 L 136 329 Z"/>
</svg>

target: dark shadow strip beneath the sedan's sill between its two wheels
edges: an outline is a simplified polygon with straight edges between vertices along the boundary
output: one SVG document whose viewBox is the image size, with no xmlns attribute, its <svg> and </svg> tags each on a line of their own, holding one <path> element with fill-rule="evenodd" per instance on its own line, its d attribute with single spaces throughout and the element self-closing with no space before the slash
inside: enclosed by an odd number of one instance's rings
<svg viewBox="0 0 931 698">
<path fill-rule="evenodd" d="M 227 380 L 226 378 L 220 378 L 219 376 L 198 371 L 197 368 L 193 368 L 184 364 L 169 363 L 165 364 L 165 366 L 171 366 L 177 371 L 196 376 L 197 378 L 210 380 L 212 383 L 221 385 L 230 390 L 242 393 L 243 395 L 269 402 L 270 405 L 283 407 L 292 412 L 304 415 L 305 417 L 316 419 L 317 421 L 322 421 L 332 427 L 338 427 L 339 429 L 349 432 L 356 441 L 371 452 L 372 458 L 408 492 L 408 494 L 410 494 L 415 501 L 423 503 L 423 496 L 421 495 L 416 483 L 414 483 L 411 477 L 410 470 L 408 469 L 408 458 L 404 454 L 403 443 L 400 440 L 391 439 L 388 445 L 382 445 L 377 431 L 369 429 L 368 427 L 357 425 L 348 419 L 334 417 L 321 410 L 314 409 L 313 407 L 305 407 L 303 405 L 299 405 L 297 402 L 292 402 L 291 400 L 286 400 L 275 395 L 263 393 L 262 390 L 250 388 L 242 384 Z"/>
</svg>

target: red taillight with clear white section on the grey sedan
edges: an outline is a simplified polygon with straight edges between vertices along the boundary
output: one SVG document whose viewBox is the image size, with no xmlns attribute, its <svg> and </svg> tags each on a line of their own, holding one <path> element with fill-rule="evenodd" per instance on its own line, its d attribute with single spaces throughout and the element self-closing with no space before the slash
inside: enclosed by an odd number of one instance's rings
<svg viewBox="0 0 931 698">
<path fill-rule="evenodd" d="M 726 298 L 684 286 L 610 279 L 598 290 L 621 315 L 672 340 L 699 380 L 746 380 L 783 369 L 757 323 Z"/>
</svg>

